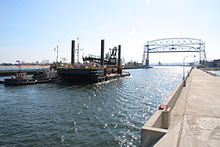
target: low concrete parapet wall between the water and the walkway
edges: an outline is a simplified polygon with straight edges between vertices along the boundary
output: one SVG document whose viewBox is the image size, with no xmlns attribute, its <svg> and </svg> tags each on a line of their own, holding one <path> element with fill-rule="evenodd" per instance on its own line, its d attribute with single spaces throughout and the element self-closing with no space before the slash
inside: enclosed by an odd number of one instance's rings
<svg viewBox="0 0 220 147">
<path fill-rule="evenodd" d="M 169 97 L 162 103 L 161 106 L 165 106 L 164 109 L 157 110 L 141 128 L 142 147 L 152 146 L 167 133 L 167 129 L 170 125 L 170 112 L 184 87 L 185 80 L 190 76 L 192 69 L 193 68 L 190 69 L 186 79 L 181 80 Z"/>
</svg>

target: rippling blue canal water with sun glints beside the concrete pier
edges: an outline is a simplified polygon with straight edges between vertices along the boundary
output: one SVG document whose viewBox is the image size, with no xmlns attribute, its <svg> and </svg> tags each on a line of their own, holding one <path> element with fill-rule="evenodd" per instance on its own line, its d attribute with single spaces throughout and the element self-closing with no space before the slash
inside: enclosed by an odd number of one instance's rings
<svg viewBox="0 0 220 147">
<path fill-rule="evenodd" d="M 131 77 L 90 85 L 0 84 L 0 146 L 138 146 L 183 70 L 127 71 Z"/>
</svg>

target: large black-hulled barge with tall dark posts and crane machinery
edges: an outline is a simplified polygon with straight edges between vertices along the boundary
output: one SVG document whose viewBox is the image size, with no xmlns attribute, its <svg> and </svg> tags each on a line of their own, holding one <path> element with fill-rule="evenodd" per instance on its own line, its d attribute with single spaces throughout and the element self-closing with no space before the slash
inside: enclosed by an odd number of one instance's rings
<svg viewBox="0 0 220 147">
<path fill-rule="evenodd" d="M 117 51 L 118 65 L 116 64 Z M 57 73 L 62 80 L 77 84 L 106 81 L 109 74 L 122 74 L 120 53 L 121 46 L 119 45 L 118 49 L 116 47 L 110 49 L 110 57 L 104 59 L 104 40 L 101 40 L 101 58 L 94 56 L 85 57 L 83 58 L 83 66 L 79 66 L 74 64 L 75 40 L 72 40 L 72 65 L 69 68 L 58 68 Z"/>
</svg>

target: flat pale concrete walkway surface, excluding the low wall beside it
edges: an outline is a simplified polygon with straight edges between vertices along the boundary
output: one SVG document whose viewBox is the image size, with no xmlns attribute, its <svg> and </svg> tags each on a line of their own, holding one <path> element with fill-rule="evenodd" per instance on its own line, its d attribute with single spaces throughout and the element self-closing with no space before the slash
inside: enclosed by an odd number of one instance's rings
<svg viewBox="0 0 220 147">
<path fill-rule="evenodd" d="M 220 77 L 194 69 L 186 84 L 155 146 L 220 146 Z"/>
</svg>

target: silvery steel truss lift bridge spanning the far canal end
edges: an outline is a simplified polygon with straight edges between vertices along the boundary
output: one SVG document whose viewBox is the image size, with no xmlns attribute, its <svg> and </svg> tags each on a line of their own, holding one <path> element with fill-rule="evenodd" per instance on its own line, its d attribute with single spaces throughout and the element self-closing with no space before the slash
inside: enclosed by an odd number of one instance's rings
<svg viewBox="0 0 220 147">
<path fill-rule="evenodd" d="M 199 64 L 206 63 L 205 43 L 195 38 L 164 38 L 148 41 L 144 45 L 143 65 L 149 67 L 150 53 L 198 52 Z"/>
</svg>

